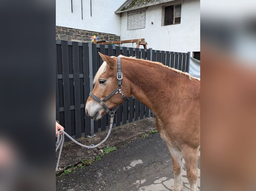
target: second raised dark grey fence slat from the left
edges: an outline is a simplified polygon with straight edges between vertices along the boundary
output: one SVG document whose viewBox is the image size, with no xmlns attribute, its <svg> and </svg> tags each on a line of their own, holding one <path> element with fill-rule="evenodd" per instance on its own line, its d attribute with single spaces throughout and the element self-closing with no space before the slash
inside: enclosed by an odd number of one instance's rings
<svg viewBox="0 0 256 191">
<path fill-rule="evenodd" d="M 80 138 L 81 137 L 81 120 L 80 120 L 81 109 L 80 109 L 80 75 L 79 75 L 78 42 L 73 42 L 73 65 L 74 65 L 76 138 Z"/>
</svg>

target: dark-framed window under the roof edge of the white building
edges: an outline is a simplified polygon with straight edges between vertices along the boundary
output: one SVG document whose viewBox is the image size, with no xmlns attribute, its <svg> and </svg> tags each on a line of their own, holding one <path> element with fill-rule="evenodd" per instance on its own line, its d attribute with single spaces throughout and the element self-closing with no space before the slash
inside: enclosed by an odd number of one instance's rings
<svg viewBox="0 0 256 191">
<path fill-rule="evenodd" d="M 171 5 L 164 8 L 164 26 L 180 23 L 181 4 Z"/>
</svg>

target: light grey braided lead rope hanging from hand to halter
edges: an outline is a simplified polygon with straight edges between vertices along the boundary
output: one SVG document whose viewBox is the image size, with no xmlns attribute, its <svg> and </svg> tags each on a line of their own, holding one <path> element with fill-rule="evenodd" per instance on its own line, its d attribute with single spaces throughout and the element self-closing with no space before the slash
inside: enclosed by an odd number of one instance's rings
<svg viewBox="0 0 256 191">
<path fill-rule="evenodd" d="M 62 151 L 62 147 L 63 147 L 63 143 L 64 143 L 64 134 L 65 134 L 67 137 L 69 137 L 73 142 L 77 143 L 78 145 L 80 145 L 80 146 L 82 146 L 82 147 L 85 147 L 85 148 L 88 148 L 88 149 L 89 149 L 89 148 L 95 148 L 95 147 L 97 147 L 97 146 L 100 146 L 102 143 L 104 143 L 104 142 L 107 140 L 107 138 L 108 138 L 109 135 L 110 135 L 112 126 L 113 126 L 113 121 L 114 121 L 114 115 L 111 115 L 108 134 L 107 134 L 106 138 L 105 138 L 103 141 L 101 141 L 99 144 L 97 144 L 97 145 L 92 144 L 91 146 L 87 146 L 87 145 L 81 144 L 81 143 L 77 142 L 75 139 L 73 139 L 73 138 L 72 138 L 68 133 L 66 133 L 65 131 L 63 131 L 63 130 L 58 131 L 58 133 L 57 133 L 57 142 L 56 142 L 56 152 L 57 152 L 59 146 L 60 146 L 60 149 L 59 149 L 59 156 L 58 156 L 57 165 L 56 165 L 56 171 L 55 171 L 55 172 L 57 172 L 57 169 L 58 169 L 58 166 L 59 166 L 59 159 L 60 159 L 60 155 L 61 155 L 61 151 Z M 62 134 L 59 134 L 60 132 L 62 132 Z"/>
</svg>

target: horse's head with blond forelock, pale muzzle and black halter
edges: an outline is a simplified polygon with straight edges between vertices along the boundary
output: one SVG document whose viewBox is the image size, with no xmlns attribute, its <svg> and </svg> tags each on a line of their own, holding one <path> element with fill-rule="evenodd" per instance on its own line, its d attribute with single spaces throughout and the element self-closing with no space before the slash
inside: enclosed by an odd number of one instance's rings
<svg viewBox="0 0 256 191">
<path fill-rule="evenodd" d="M 124 102 L 126 99 L 124 94 L 129 92 L 125 88 L 127 87 L 127 82 L 123 78 L 125 75 L 122 75 L 122 73 L 117 75 L 118 67 L 121 68 L 117 57 L 99 54 L 104 62 L 94 77 L 93 83 L 95 86 L 87 99 L 85 107 L 86 114 L 94 120 L 100 119 L 106 112 L 113 115 L 113 111 L 110 110 Z"/>
</svg>

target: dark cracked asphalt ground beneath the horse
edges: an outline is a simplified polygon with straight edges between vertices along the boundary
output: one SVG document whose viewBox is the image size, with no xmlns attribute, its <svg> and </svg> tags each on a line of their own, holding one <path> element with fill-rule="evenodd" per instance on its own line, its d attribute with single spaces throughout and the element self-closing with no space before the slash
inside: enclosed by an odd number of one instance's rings
<svg viewBox="0 0 256 191">
<path fill-rule="evenodd" d="M 150 128 L 155 129 L 153 124 L 154 119 L 152 118 L 135 121 L 129 123 L 129 125 L 127 124 L 127 128 L 136 129 L 137 126 L 140 126 L 140 129 L 143 129 L 145 131 L 144 133 L 148 134 L 148 137 L 141 138 L 136 135 L 131 136 L 132 138 L 128 138 L 124 141 L 125 134 L 122 134 L 123 142 L 120 143 L 119 141 L 113 143 L 113 145 L 118 146 L 117 150 L 104 155 L 99 161 L 86 165 L 81 169 L 77 168 L 68 175 L 62 175 L 60 177 L 56 176 L 56 191 L 172 190 L 174 176 L 170 153 L 159 133 L 149 133 Z M 118 128 L 119 127 L 116 127 L 113 130 L 119 133 L 122 130 L 126 131 L 126 127 Z M 133 131 L 133 129 L 130 129 L 130 134 L 132 134 L 131 131 Z M 100 136 L 103 136 L 107 132 L 100 133 L 102 133 Z M 113 134 L 115 134 L 115 132 Z M 111 137 L 109 138 L 111 140 Z M 112 137 L 112 140 L 113 138 L 114 137 Z M 118 137 L 115 138 L 118 139 Z M 67 143 L 66 148 L 72 146 L 74 145 Z M 100 150 L 101 149 L 98 149 L 96 151 L 100 152 Z M 94 152 L 91 152 L 90 155 L 92 156 L 93 153 Z M 63 154 L 62 165 L 64 166 L 62 166 L 62 169 L 65 168 L 65 162 L 66 166 L 68 166 L 70 165 L 70 161 L 74 161 L 67 160 L 67 162 L 65 160 L 67 159 L 67 156 L 65 157 L 65 153 Z M 66 151 L 66 154 L 69 154 L 69 151 Z M 76 154 L 73 152 L 73 155 Z M 200 190 L 200 157 L 198 176 L 198 188 Z M 185 165 L 183 165 L 182 178 L 183 190 L 187 191 L 189 190 L 189 183 L 186 178 Z"/>
</svg>

